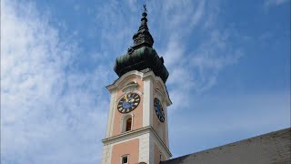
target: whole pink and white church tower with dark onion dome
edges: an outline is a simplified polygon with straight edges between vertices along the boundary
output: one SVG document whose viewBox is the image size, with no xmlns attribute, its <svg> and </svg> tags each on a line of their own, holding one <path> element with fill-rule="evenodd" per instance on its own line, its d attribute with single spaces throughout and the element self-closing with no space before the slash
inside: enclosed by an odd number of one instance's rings
<svg viewBox="0 0 291 164">
<path fill-rule="evenodd" d="M 110 98 L 102 164 L 158 164 L 169 159 L 166 90 L 168 72 L 153 48 L 145 12 L 123 56 L 115 61 L 118 79 L 106 88 Z"/>
</svg>

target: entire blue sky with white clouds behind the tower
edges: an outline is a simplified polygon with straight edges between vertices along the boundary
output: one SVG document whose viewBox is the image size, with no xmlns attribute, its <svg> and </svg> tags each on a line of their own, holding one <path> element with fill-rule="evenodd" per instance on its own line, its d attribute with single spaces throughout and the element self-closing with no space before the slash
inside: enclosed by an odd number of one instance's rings
<svg viewBox="0 0 291 164">
<path fill-rule="evenodd" d="M 290 127 L 289 0 L 2 0 L 1 163 L 100 163 L 146 4 L 173 158 Z"/>
</svg>

